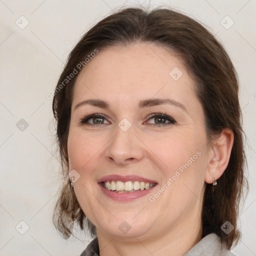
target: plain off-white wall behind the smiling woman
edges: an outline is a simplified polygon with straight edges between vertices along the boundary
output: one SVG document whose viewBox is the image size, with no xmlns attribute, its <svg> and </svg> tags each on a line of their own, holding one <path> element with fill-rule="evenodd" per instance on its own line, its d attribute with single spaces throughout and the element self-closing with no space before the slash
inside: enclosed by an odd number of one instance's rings
<svg viewBox="0 0 256 256">
<path fill-rule="evenodd" d="M 60 175 L 51 100 L 46 94 L 54 89 L 67 54 L 81 35 L 113 9 L 134 2 L 0 0 L 0 255 L 78 256 L 88 243 L 90 238 L 63 240 L 51 222 Z M 242 238 L 233 251 L 256 255 L 256 2 L 155 0 L 150 4 L 168 4 L 209 26 L 236 67 L 250 191 L 239 218 Z M 21 15 L 29 21 L 24 29 L 15 24 L 16 20 L 25 24 Z M 226 15 L 234 21 L 229 29 L 220 23 Z M 28 123 L 23 131 L 16 127 L 21 118 Z M 15 229 L 21 220 L 29 226 L 24 234 Z"/>
</svg>

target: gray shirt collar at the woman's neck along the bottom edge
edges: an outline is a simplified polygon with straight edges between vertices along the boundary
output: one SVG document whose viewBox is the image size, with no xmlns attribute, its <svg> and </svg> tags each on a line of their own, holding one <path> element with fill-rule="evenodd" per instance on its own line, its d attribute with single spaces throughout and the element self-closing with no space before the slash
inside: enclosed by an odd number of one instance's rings
<svg viewBox="0 0 256 256">
<path fill-rule="evenodd" d="M 98 256 L 98 239 L 94 238 L 80 254 L 80 256 Z M 220 242 L 219 237 L 208 234 L 196 243 L 184 256 L 235 256 L 230 250 L 226 249 Z"/>
</svg>

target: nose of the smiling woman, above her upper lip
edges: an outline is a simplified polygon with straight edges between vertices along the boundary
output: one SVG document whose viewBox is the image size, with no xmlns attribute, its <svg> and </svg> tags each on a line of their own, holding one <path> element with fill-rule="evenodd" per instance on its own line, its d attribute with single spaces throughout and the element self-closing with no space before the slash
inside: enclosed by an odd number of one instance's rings
<svg viewBox="0 0 256 256">
<path fill-rule="evenodd" d="M 134 134 L 132 126 L 123 131 L 116 125 L 115 135 L 107 143 L 105 151 L 106 159 L 118 165 L 126 165 L 143 158 L 143 144 Z"/>
</svg>

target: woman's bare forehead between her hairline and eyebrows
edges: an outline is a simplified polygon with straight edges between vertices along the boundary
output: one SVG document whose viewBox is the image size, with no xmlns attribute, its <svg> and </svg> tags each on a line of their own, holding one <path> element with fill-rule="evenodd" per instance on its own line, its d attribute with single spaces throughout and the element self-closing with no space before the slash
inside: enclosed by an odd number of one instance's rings
<svg viewBox="0 0 256 256">
<path fill-rule="evenodd" d="M 100 50 L 78 74 L 73 103 L 85 97 L 117 103 L 157 96 L 195 98 L 194 82 L 182 60 L 153 43 L 132 43 Z"/>
</svg>

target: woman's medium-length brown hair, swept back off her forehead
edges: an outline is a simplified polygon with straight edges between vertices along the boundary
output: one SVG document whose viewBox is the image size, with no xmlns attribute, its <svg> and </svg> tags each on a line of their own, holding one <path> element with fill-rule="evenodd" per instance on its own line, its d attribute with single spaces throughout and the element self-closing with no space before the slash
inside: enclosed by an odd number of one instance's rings
<svg viewBox="0 0 256 256">
<path fill-rule="evenodd" d="M 67 175 L 67 137 L 77 75 L 61 90 L 59 84 L 63 84 L 66 76 L 95 49 L 100 52 L 107 46 L 125 46 L 132 42 L 156 43 L 183 60 L 204 110 L 209 139 L 224 128 L 233 131 L 234 142 L 228 165 L 217 186 L 206 184 L 202 207 L 202 235 L 215 233 L 230 248 L 239 239 L 238 207 L 243 188 L 247 187 L 237 75 L 223 46 L 203 25 L 182 13 L 166 7 L 150 11 L 141 7 L 121 9 L 90 28 L 70 52 L 52 104 L 63 176 Z M 234 226 L 229 234 L 220 228 L 227 220 Z M 96 234 L 95 226 L 85 216 L 66 178 L 55 205 L 53 222 L 64 238 L 72 234 L 75 223 L 81 230 L 87 227 L 90 234 Z"/>
</svg>

